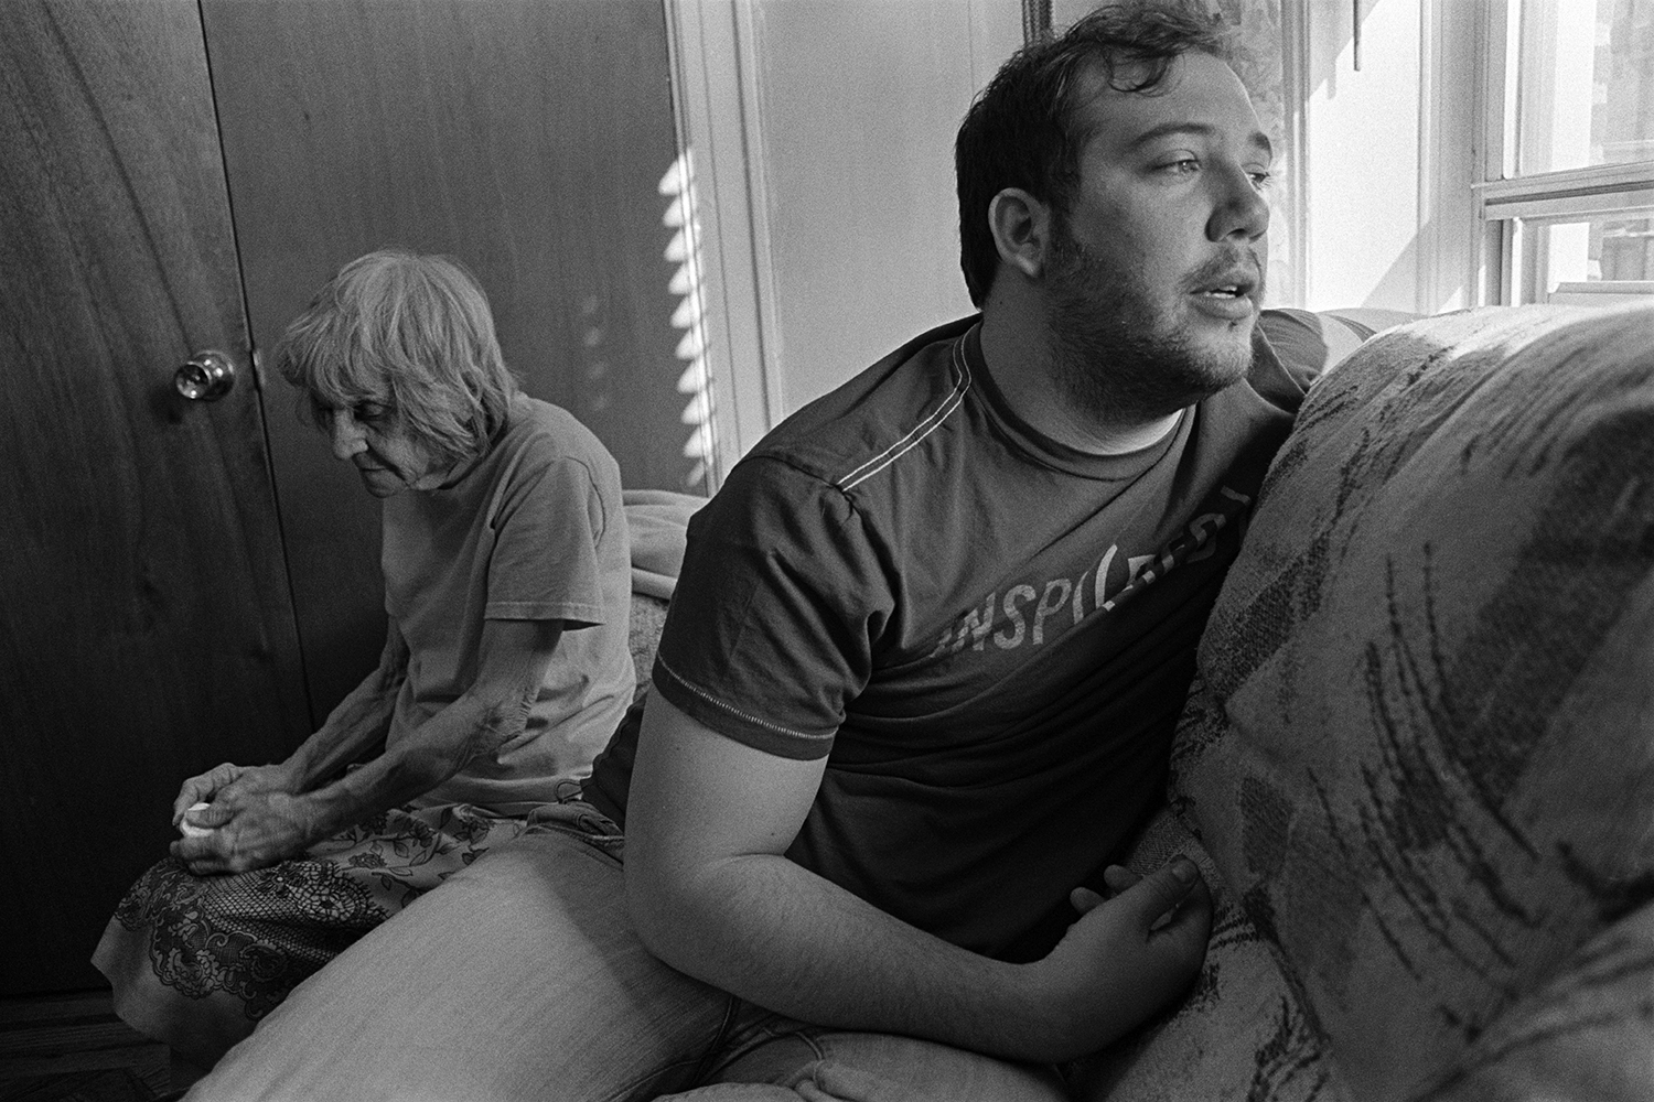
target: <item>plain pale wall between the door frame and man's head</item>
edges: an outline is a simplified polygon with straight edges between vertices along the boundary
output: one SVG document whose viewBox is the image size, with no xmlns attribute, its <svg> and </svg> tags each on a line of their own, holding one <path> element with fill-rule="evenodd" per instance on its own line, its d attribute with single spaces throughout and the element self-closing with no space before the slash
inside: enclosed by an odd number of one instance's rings
<svg viewBox="0 0 1654 1102">
<path fill-rule="evenodd" d="M 1021 7 L 853 0 L 754 7 L 759 149 L 781 406 L 973 311 L 953 137 L 1021 45 Z M 830 48 L 824 45 L 830 43 Z"/>
</svg>

